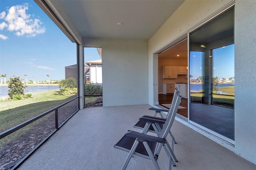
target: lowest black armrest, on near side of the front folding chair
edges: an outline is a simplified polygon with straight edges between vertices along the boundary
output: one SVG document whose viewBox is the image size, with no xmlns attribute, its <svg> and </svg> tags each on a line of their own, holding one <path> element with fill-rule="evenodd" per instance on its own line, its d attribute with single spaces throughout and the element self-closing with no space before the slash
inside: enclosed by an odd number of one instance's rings
<svg viewBox="0 0 256 170">
<path fill-rule="evenodd" d="M 146 140 L 146 141 L 152 141 L 152 142 L 158 142 L 158 143 L 166 143 L 166 139 L 159 138 L 156 136 L 150 136 L 148 134 L 142 134 L 135 131 L 128 131 L 125 136 L 130 136 L 134 138 L 138 138 L 139 140 Z"/>
</svg>

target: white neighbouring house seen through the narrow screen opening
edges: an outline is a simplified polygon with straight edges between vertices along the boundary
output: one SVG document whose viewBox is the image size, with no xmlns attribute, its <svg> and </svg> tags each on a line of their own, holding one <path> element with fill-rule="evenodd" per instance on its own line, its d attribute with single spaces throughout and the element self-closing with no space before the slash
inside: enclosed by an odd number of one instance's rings
<svg viewBox="0 0 256 170">
<path fill-rule="evenodd" d="M 102 85 L 102 59 L 85 62 L 90 67 L 90 83 Z"/>
</svg>

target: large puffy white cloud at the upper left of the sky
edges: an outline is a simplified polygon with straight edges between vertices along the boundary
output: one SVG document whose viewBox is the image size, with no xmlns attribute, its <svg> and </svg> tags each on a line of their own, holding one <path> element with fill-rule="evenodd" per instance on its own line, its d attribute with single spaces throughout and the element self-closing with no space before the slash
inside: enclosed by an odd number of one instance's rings
<svg viewBox="0 0 256 170">
<path fill-rule="evenodd" d="M 0 17 L 7 22 L 7 26 L 3 24 L 0 28 L 7 27 L 8 31 L 14 31 L 17 36 L 35 37 L 37 34 L 43 34 L 46 30 L 42 26 L 43 23 L 37 18 L 32 19 L 31 14 L 26 14 L 26 10 L 28 5 L 16 5 L 8 10 L 7 15 L 2 12 Z"/>
</svg>

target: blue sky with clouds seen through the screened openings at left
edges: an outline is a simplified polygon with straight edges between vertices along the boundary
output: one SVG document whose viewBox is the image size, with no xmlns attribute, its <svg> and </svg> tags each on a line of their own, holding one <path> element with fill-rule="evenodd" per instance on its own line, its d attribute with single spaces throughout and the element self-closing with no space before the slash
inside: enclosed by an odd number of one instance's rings
<svg viewBox="0 0 256 170">
<path fill-rule="evenodd" d="M 86 49 L 85 61 L 100 59 Z M 32 1 L 0 0 L 0 74 L 42 81 L 65 78 L 65 66 L 76 64 L 72 43 Z"/>
</svg>

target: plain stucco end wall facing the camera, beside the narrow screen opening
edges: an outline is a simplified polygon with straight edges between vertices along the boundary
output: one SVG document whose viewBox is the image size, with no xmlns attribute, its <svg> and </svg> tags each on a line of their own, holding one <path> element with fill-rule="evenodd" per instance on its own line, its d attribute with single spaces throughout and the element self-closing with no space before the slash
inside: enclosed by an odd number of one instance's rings
<svg viewBox="0 0 256 170">
<path fill-rule="evenodd" d="M 148 104 L 148 41 L 86 39 L 102 47 L 103 106 Z"/>
</svg>

